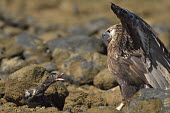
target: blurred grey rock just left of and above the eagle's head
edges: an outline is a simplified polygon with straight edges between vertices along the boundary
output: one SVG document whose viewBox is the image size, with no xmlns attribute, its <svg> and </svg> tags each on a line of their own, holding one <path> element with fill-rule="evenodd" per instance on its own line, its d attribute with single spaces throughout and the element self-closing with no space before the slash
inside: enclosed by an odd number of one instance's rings
<svg viewBox="0 0 170 113">
<path fill-rule="evenodd" d="M 108 28 L 110 21 L 106 18 L 97 18 L 85 24 L 85 29 L 89 35 L 99 32 L 103 28 Z"/>
</svg>

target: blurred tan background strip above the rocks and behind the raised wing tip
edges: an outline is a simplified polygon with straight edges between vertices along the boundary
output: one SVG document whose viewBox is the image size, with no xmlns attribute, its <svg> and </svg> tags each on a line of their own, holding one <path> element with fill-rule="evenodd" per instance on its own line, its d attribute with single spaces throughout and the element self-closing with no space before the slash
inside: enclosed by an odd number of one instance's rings
<svg viewBox="0 0 170 113">
<path fill-rule="evenodd" d="M 66 35 L 69 28 L 84 26 L 99 18 L 109 20 L 109 25 L 119 23 L 110 9 L 110 2 L 141 16 L 155 28 L 167 46 L 170 44 L 169 0 L 0 0 L 0 10 L 13 18 L 25 17 L 32 22 L 29 24 L 60 25 L 62 35 Z M 101 26 L 108 27 L 108 24 Z"/>
</svg>

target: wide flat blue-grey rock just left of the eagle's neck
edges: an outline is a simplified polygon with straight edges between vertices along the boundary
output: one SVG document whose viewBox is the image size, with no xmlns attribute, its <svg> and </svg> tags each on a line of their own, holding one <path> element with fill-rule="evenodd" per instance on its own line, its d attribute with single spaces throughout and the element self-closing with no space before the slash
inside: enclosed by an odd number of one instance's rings
<svg viewBox="0 0 170 113">
<path fill-rule="evenodd" d="M 55 38 L 47 41 L 47 45 L 51 51 L 54 51 L 55 48 L 61 48 L 75 52 L 94 51 L 106 54 L 106 47 L 101 40 L 85 35 Z"/>
</svg>

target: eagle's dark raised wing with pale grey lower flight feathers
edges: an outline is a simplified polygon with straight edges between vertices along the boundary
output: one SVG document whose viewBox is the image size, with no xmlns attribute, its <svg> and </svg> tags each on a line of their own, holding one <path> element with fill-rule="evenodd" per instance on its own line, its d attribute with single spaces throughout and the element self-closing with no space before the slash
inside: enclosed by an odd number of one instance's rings
<svg viewBox="0 0 170 113">
<path fill-rule="evenodd" d="M 139 16 L 114 4 L 113 12 L 133 40 L 136 49 L 144 51 L 145 77 L 154 88 L 170 88 L 170 54 L 152 28 Z"/>
</svg>

